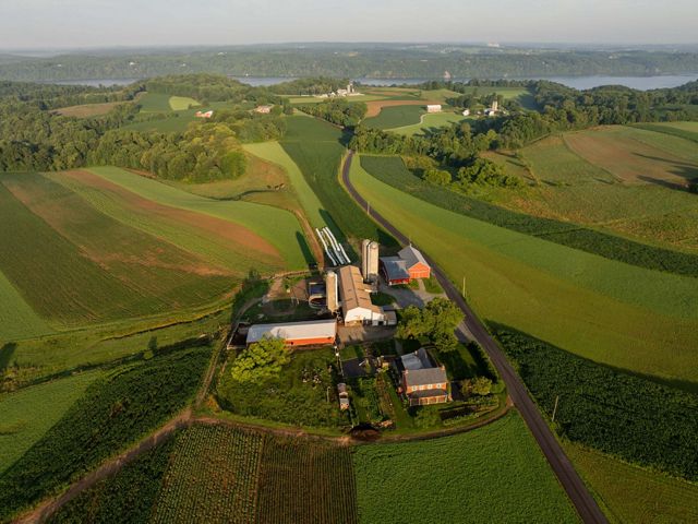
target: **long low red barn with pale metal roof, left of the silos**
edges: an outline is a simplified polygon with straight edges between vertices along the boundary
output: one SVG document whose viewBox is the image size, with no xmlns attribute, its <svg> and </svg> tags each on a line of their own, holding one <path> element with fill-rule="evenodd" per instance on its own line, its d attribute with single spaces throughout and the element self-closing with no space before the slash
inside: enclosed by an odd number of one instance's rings
<svg viewBox="0 0 698 524">
<path fill-rule="evenodd" d="M 248 331 L 248 345 L 262 338 L 284 338 L 288 346 L 316 346 L 334 344 L 337 337 L 337 322 L 311 320 L 306 322 L 284 322 L 279 324 L 254 324 Z"/>
</svg>

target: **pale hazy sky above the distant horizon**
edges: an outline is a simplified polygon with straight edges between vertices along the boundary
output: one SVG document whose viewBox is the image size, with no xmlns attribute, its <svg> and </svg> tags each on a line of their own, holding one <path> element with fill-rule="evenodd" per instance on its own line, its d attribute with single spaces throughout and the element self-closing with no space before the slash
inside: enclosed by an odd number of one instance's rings
<svg viewBox="0 0 698 524">
<path fill-rule="evenodd" d="M 697 43 L 698 0 L 0 0 L 0 48 Z"/>
</svg>

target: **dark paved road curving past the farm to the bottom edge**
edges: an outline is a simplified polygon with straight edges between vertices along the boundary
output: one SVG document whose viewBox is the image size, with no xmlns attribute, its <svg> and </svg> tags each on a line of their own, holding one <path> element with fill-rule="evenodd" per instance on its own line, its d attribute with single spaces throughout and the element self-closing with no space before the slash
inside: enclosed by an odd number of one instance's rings
<svg viewBox="0 0 698 524">
<path fill-rule="evenodd" d="M 368 209 L 366 201 L 359 194 L 357 189 L 351 183 L 349 178 L 349 168 L 353 158 L 353 152 L 349 152 L 347 160 L 342 166 L 341 179 L 345 187 L 349 191 L 349 194 L 359 203 L 364 210 Z M 390 235 L 393 235 L 402 245 L 409 243 L 409 240 L 402 235 L 393 224 L 381 216 L 380 213 L 371 211 L 371 216 L 375 222 L 383 226 Z M 416 246 L 417 247 L 417 246 Z M 524 383 L 514 371 L 514 368 L 508 362 L 502 349 L 494 338 L 490 335 L 484 327 L 480 319 L 474 314 L 468 302 L 456 289 L 453 283 L 446 277 L 445 273 L 434 263 L 433 260 L 426 253 L 423 253 L 426 261 L 432 266 L 432 271 L 436 276 L 436 279 L 442 285 L 446 295 L 452 299 L 465 313 L 465 324 L 468 331 L 473 335 L 476 341 L 488 352 L 490 359 L 496 367 L 500 376 L 504 380 L 507 386 L 507 391 L 514 401 L 514 405 L 518 408 L 521 417 L 528 425 L 533 438 L 540 445 L 545 458 L 550 463 L 553 472 L 557 476 L 559 484 L 567 492 L 567 496 L 571 500 L 573 504 L 577 509 L 579 516 L 585 523 L 606 523 L 606 517 L 603 515 L 599 505 L 589 493 L 589 490 L 575 472 L 569 458 L 565 455 L 565 452 L 561 448 L 559 443 L 553 436 L 551 429 L 547 427 L 545 420 L 541 416 L 538 407 L 533 403 L 533 400 L 529 396 L 528 391 L 524 386 Z"/>
</svg>

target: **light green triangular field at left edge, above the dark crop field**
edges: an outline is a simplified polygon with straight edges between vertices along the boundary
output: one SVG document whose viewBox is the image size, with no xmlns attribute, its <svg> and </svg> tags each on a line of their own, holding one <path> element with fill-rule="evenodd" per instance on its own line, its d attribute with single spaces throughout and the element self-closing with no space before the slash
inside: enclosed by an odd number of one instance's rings
<svg viewBox="0 0 698 524">
<path fill-rule="evenodd" d="M 0 475 L 41 439 L 100 374 L 75 374 L 0 396 Z"/>
</svg>

